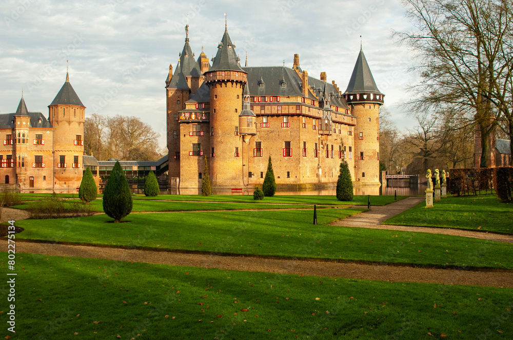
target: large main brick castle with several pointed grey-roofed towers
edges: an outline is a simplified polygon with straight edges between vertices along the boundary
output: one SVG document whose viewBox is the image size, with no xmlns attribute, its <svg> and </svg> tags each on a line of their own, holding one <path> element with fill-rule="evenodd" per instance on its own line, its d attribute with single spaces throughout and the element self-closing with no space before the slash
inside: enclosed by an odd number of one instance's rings
<svg viewBox="0 0 513 340">
<path fill-rule="evenodd" d="M 362 50 L 349 84 L 292 68 L 240 65 L 228 30 L 209 59 L 185 46 L 166 79 L 171 187 L 199 188 L 205 160 L 212 188 L 261 186 L 271 156 L 278 187 L 333 185 L 345 158 L 355 184 L 379 182 L 378 90 Z"/>
</svg>

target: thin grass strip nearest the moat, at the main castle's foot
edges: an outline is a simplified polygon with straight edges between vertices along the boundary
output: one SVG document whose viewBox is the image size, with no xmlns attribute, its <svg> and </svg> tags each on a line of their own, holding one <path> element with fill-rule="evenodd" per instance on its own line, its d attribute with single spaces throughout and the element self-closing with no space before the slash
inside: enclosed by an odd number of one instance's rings
<svg viewBox="0 0 513 340">
<path fill-rule="evenodd" d="M 398 196 L 402 200 L 408 196 Z M 286 203 L 286 204 L 322 204 L 322 205 L 367 205 L 368 196 L 354 196 L 352 201 L 339 201 L 335 196 L 303 196 L 303 195 L 274 195 L 263 201 L 254 201 L 253 195 L 159 195 L 157 197 L 133 196 L 134 200 L 168 200 L 168 201 L 210 201 L 210 202 L 241 202 L 241 203 Z M 394 202 L 393 196 L 370 196 L 371 205 L 385 205 Z"/>
</svg>

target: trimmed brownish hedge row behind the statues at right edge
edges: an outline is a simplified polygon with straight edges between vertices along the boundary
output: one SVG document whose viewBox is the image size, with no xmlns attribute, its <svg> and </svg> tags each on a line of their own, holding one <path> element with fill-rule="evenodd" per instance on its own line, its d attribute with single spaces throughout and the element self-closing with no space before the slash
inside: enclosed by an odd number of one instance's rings
<svg viewBox="0 0 513 340">
<path fill-rule="evenodd" d="M 456 196 L 492 194 L 503 202 L 513 202 L 513 167 L 449 169 L 449 193 Z"/>
</svg>

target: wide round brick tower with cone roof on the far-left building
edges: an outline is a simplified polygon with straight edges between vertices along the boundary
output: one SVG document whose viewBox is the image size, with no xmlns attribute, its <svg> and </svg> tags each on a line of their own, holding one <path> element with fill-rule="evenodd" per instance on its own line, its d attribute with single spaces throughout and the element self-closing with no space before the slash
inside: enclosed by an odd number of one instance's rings
<svg viewBox="0 0 513 340">
<path fill-rule="evenodd" d="M 48 105 L 48 120 L 53 126 L 53 188 L 68 192 L 80 186 L 83 173 L 84 120 L 86 107 L 66 81 Z"/>
</svg>

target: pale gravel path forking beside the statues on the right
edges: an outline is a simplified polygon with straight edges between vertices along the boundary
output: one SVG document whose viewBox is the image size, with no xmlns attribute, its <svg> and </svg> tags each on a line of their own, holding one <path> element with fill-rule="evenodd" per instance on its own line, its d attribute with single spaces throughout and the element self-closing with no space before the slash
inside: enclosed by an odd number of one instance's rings
<svg viewBox="0 0 513 340">
<path fill-rule="evenodd" d="M 350 216 L 343 220 L 335 221 L 330 225 L 354 228 L 402 230 L 414 232 L 428 232 L 442 235 L 453 235 L 471 237 L 475 239 L 508 242 L 513 243 L 513 235 L 501 235 L 492 232 L 469 231 L 451 228 L 429 228 L 429 227 L 411 227 L 402 225 L 381 224 L 383 221 L 402 213 L 404 210 L 415 206 L 424 200 L 423 197 L 408 197 L 404 200 L 390 203 L 384 206 L 372 206 L 370 211 Z"/>
</svg>

